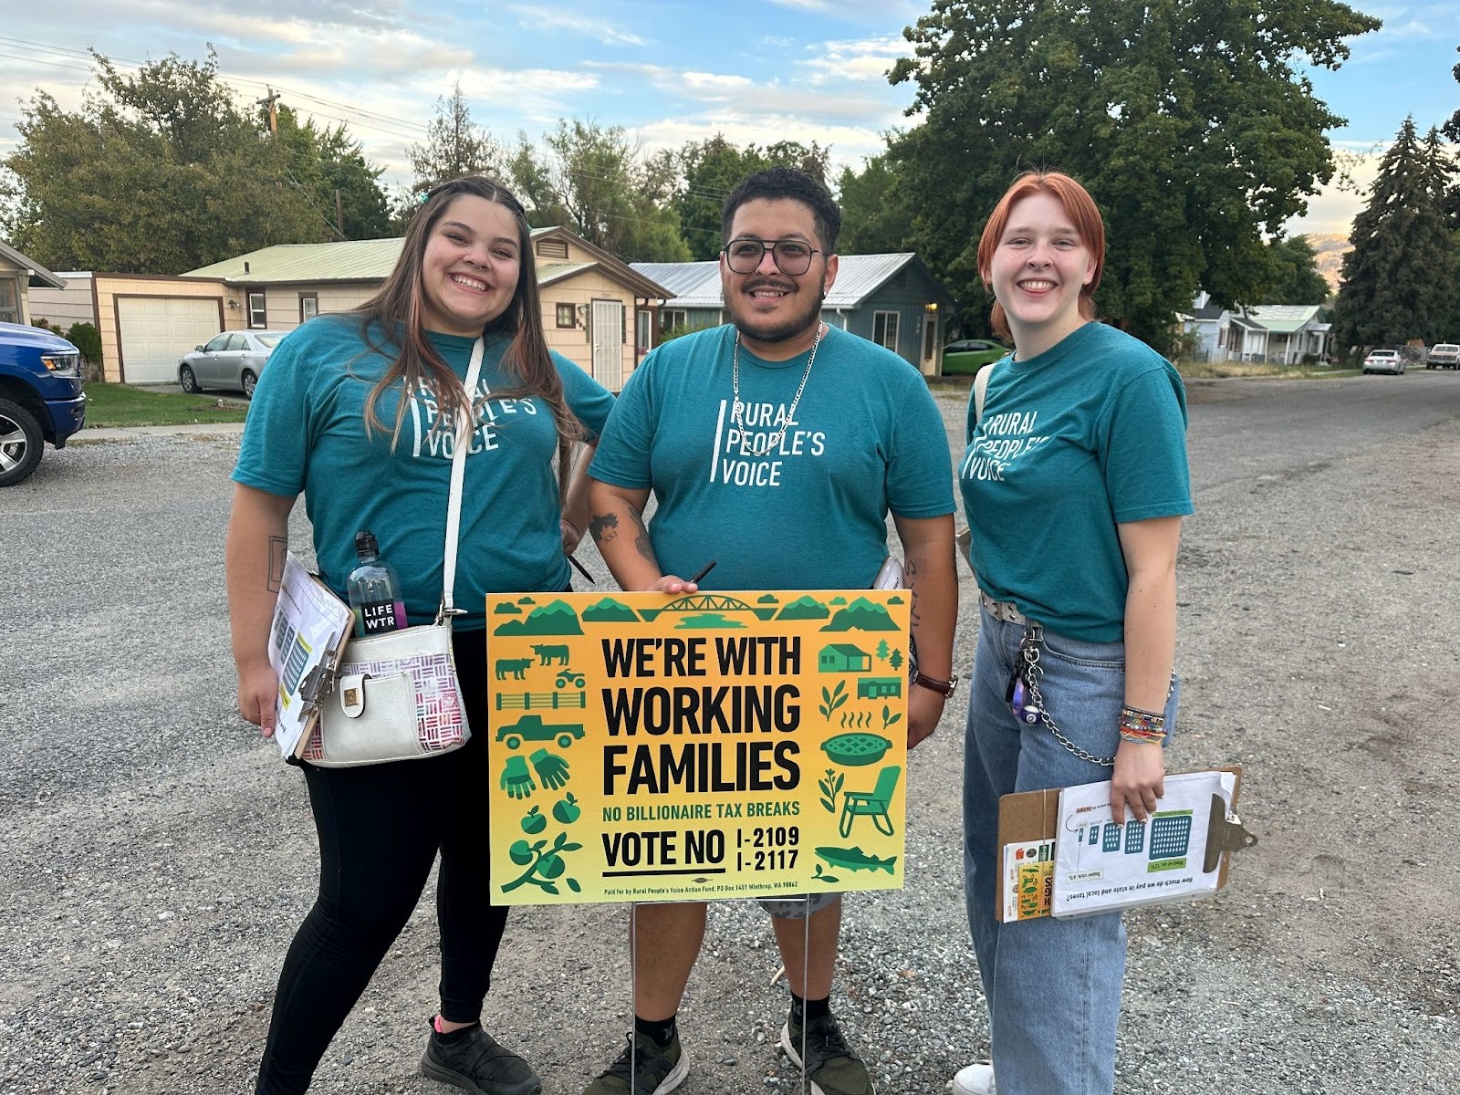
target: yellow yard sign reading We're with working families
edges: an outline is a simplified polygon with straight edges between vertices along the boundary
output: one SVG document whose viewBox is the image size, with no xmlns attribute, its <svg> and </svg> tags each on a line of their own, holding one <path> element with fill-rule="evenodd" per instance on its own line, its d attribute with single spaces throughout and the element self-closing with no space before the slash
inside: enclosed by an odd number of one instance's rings
<svg viewBox="0 0 1460 1095">
<path fill-rule="evenodd" d="M 491 594 L 493 901 L 899 888 L 907 599 Z"/>
</svg>

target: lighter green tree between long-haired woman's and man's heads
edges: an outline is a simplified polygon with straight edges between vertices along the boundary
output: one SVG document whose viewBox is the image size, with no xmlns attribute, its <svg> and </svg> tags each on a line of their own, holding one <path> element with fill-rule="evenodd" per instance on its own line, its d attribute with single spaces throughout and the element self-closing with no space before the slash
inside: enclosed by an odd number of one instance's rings
<svg viewBox="0 0 1460 1095">
<path fill-rule="evenodd" d="M 689 258 L 679 218 L 669 204 L 679 178 L 673 153 L 644 156 L 628 143 L 620 126 L 577 118 L 559 121 L 543 143 L 548 156 L 540 168 L 550 190 L 534 204 L 559 206 L 569 216 L 568 228 L 623 261 Z"/>
</svg>

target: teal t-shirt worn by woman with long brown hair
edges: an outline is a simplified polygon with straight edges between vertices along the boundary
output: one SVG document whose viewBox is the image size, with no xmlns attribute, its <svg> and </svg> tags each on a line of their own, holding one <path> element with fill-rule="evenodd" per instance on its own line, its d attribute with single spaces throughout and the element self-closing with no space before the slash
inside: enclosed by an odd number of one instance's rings
<svg viewBox="0 0 1460 1095">
<path fill-rule="evenodd" d="M 372 342 L 384 345 L 380 328 Z M 466 380 L 473 339 L 431 334 L 431 345 Z M 486 336 L 477 396 L 514 387 L 501 361 L 508 337 Z M 385 429 L 365 429 L 365 400 L 393 356 L 371 350 L 355 317 L 321 315 L 274 347 L 258 378 L 234 479 L 292 498 L 304 492 L 320 577 L 342 597 L 356 566 L 355 533 L 369 529 L 381 558 L 404 585 L 406 616 L 429 623 L 441 602 L 450 432 L 432 432 L 437 404 L 418 391 L 391 451 L 400 384 L 381 393 Z M 555 353 L 568 407 L 597 437 L 613 396 Z M 486 594 L 564 590 L 571 572 L 558 527 L 553 454 L 558 432 L 539 397 L 488 399 L 477 415 L 461 488 L 454 599 L 457 626 L 485 626 Z"/>
</svg>

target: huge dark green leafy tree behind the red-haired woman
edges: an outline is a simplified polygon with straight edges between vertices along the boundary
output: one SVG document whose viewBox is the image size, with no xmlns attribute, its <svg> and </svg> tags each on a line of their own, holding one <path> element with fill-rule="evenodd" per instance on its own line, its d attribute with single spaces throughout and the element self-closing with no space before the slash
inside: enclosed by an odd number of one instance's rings
<svg viewBox="0 0 1460 1095">
<path fill-rule="evenodd" d="M 1378 26 L 1333 0 L 934 0 L 889 74 L 926 112 L 891 146 L 918 250 L 984 312 L 984 220 L 1021 171 L 1060 168 L 1107 220 L 1096 304 L 1167 349 L 1197 289 L 1259 295 L 1263 235 L 1332 177 L 1343 123 L 1299 66 L 1336 69 Z"/>
</svg>

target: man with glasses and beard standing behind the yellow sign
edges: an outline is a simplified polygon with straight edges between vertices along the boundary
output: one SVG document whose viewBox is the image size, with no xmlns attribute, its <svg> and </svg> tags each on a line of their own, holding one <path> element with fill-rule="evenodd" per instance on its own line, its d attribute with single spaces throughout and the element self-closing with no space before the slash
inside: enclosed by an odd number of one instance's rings
<svg viewBox="0 0 1460 1095">
<path fill-rule="evenodd" d="M 917 675 L 908 745 L 953 691 L 953 492 L 943 420 L 908 362 L 822 321 L 841 210 L 806 172 L 772 168 L 726 199 L 720 279 L 730 323 L 635 369 L 590 474 L 590 530 L 625 590 L 866 588 L 891 511 L 911 591 Z M 653 491 L 658 508 L 645 526 Z M 699 585 L 708 559 L 714 571 Z M 791 990 L 781 1047 L 815 1095 L 869 1095 L 831 1013 L 841 896 L 765 899 Z M 584 1095 L 663 1095 L 685 1079 L 676 1013 L 705 904 L 634 912 L 634 1034 Z"/>
</svg>

